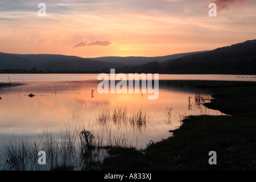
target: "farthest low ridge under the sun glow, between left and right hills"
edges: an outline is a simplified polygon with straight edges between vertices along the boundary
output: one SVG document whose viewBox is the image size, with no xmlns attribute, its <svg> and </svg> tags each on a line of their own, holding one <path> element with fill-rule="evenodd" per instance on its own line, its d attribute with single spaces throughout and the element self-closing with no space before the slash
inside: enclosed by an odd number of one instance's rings
<svg viewBox="0 0 256 182">
<path fill-rule="evenodd" d="M 127 57 L 120 57 L 120 56 L 107 56 L 107 57 L 90 57 L 89 59 L 97 60 L 97 61 L 106 61 L 110 63 L 123 63 L 128 65 L 140 65 L 140 64 L 146 64 L 153 61 L 166 61 L 166 60 L 172 60 L 177 59 L 179 57 L 192 55 L 195 53 L 203 53 L 208 51 L 198 51 L 198 52 L 187 52 L 187 53 L 176 53 L 174 55 L 168 55 L 168 56 L 157 56 L 157 57 L 143 57 L 143 56 L 127 56 Z"/>
</svg>

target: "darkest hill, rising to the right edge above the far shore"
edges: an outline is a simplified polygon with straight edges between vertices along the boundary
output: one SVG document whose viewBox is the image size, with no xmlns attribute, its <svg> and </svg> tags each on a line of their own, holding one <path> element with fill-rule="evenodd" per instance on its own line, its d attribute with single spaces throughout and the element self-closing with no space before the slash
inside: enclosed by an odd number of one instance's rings
<svg viewBox="0 0 256 182">
<path fill-rule="evenodd" d="M 125 67 L 120 72 L 256 75 L 256 40 L 160 63 Z"/>
</svg>

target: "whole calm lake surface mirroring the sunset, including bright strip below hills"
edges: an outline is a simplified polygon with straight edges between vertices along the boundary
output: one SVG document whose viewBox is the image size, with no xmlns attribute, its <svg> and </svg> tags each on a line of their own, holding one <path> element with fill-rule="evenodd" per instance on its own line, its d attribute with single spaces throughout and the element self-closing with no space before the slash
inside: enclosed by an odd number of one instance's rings
<svg viewBox="0 0 256 182">
<path fill-rule="evenodd" d="M 46 129 L 59 133 L 63 126 L 76 120 L 86 130 L 94 131 L 94 135 L 112 137 L 113 140 L 125 138 L 131 146 L 144 148 L 150 140 L 170 137 L 169 131 L 179 127 L 186 115 L 222 114 L 202 105 L 210 99 L 210 93 L 203 90 L 159 85 L 157 100 L 148 100 L 147 93 L 100 94 L 97 92 L 97 75 L 1 74 L 0 82 L 9 82 L 9 76 L 11 82 L 18 85 L 0 88 L 0 139 L 8 140 L 12 135 L 34 136 Z M 256 81 L 255 76 L 236 75 L 160 75 L 159 78 Z M 35 96 L 28 97 L 31 93 Z M 198 100 L 199 96 L 201 100 Z M 170 107 L 168 117 L 166 109 Z M 118 109 L 125 110 L 129 117 L 142 110 L 147 118 L 146 125 L 134 127 L 129 122 L 99 122 L 99 115 L 109 113 L 113 117 Z"/>
</svg>

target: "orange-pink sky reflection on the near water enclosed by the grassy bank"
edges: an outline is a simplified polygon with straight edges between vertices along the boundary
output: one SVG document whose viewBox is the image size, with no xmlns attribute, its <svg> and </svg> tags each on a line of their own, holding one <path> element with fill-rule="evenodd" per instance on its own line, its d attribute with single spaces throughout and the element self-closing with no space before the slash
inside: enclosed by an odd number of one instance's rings
<svg viewBox="0 0 256 182">
<path fill-rule="evenodd" d="M 148 100 L 147 93 L 99 94 L 97 85 L 94 80 L 39 81 L 1 88 L 0 133 L 34 134 L 45 128 L 57 133 L 79 112 L 86 128 L 130 133 L 144 147 L 149 140 L 170 136 L 168 131 L 179 127 L 186 115 L 221 114 L 202 105 L 210 95 L 199 89 L 162 84 L 158 100 Z"/>
</svg>

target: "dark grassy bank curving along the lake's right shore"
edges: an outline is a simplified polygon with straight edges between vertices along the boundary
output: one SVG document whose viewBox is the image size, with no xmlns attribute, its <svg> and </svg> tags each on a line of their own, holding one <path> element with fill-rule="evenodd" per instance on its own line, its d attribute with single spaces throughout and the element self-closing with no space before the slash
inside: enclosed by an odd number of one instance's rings
<svg viewBox="0 0 256 182">
<path fill-rule="evenodd" d="M 150 143 L 146 150 L 115 147 L 101 169 L 108 170 L 255 170 L 256 83 L 229 81 L 171 81 L 213 92 L 205 106 L 229 115 L 189 116 L 174 137 Z M 209 151 L 217 164 L 210 165 Z"/>
</svg>

